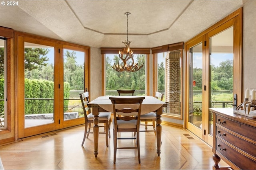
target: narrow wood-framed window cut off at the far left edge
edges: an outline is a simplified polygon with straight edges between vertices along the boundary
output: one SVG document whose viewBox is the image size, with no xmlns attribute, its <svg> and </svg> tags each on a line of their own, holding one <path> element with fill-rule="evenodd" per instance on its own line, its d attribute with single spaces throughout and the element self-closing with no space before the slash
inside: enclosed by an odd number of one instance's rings
<svg viewBox="0 0 256 170">
<path fill-rule="evenodd" d="M 14 74 L 14 57 L 12 45 L 14 43 L 14 30 L 0 27 L 0 135 L 1 137 L 14 132 L 11 103 L 14 102 L 11 93 L 11 75 Z"/>
</svg>

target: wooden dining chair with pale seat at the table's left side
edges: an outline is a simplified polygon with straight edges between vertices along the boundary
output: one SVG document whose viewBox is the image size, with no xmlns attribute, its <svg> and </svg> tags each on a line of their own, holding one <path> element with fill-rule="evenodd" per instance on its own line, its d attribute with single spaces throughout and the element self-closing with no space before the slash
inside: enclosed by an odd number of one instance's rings
<svg viewBox="0 0 256 170">
<path fill-rule="evenodd" d="M 82 102 L 82 107 L 84 110 L 84 120 L 85 120 L 85 128 L 84 128 L 84 139 L 82 142 L 82 146 L 84 145 L 84 141 L 85 141 L 85 137 L 86 139 L 88 139 L 88 136 L 90 133 L 90 129 L 91 129 L 91 125 L 93 123 L 93 115 L 90 111 L 90 108 L 87 107 L 87 104 L 89 103 L 89 92 L 84 92 L 80 94 L 80 99 Z M 104 123 L 103 126 L 99 126 L 99 127 L 104 127 L 104 132 L 99 132 L 99 133 L 105 133 L 106 134 L 106 146 L 108 147 L 108 137 L 110 138 L 110 123 L 111 123 L 111 119 L 110 119 L 111 113 L 109 112 L 100 112 L 99 113 L 99 123 Z"/>
</svg>

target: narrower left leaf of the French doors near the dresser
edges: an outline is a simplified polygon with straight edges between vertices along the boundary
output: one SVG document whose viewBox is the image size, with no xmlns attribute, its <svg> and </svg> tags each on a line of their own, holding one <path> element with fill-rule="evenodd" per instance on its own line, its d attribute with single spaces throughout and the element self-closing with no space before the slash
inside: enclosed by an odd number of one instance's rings
<svg viewBox="0 0 256 170">
<path fill-rule="evenodd" d="M 188 122 L 187 127 L 202 137 L 204 129 L 204 53 L 202 38 L 197 39 L 188 49 Z"/>
</svg>

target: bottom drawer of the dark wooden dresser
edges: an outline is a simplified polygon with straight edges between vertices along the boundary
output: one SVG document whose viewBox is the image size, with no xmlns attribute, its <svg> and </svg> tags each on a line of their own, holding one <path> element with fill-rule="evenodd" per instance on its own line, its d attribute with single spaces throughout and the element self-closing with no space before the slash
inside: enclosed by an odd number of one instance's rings
<svg viewBox="0 0 256 170">
<path fill-rule="evenodd" d="M 216 152 L 219 152 L 228 160 L 235 163 L 240 169 L 256 169 L 256 162 L 244 154 L 232 149 L 223 141 L 216 138 Z"/>
</svg>

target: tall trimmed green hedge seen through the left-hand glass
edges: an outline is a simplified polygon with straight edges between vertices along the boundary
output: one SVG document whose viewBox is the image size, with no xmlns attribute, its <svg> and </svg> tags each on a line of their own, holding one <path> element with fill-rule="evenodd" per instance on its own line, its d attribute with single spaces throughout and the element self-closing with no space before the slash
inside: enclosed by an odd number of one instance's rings
<svg viewBox="0 0 256 170">
<path fill-rule="evenodd" d="M 54 113 L 54 82 L 47 80 L 25 79 L 25 114 Z M 64 82 L 64 99 L 70 96 L 70 84 Z M 4 79 L 0 79 L 0 99 L 4 99 Z M 44 100 L 45 99 L 45 100 Z M 68 100 L 64 100 L 64 108 L 68 108 Z M 4 101 L 0 101 L 0 112 L 4 111 Z"/>
</svg>

